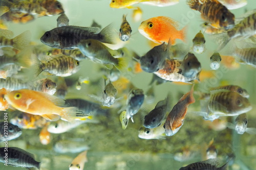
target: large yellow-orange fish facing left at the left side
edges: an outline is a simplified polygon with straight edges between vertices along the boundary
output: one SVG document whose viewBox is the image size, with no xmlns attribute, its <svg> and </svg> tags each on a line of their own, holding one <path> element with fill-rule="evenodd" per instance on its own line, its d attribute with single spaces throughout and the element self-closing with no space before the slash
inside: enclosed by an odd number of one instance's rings
<svg viewBox="0 0 256 170">
<path fill-rule="evenodd" d="M 50 121 L 56 121 L 61 117 L 71 122 L 76 116 L 84 116 L 76 107 L 59 107 L 63 106 L 65 101 L 44 92 L 29 89 L 14 90 L 5 94 L 4 98 L 17 110 L 40 115 Z"/>
</svg>

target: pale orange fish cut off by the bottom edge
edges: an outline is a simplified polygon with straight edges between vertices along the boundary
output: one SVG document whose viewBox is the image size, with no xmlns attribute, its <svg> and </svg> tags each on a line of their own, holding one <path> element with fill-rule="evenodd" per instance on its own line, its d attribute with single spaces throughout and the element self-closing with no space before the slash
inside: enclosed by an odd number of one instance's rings
<svg viewBox="0 0 256 170">
<path fill-rule="evenodd" d="M 86 162 L 88 162 L 87 151 L 83 151 L 69 165 L 69 170 L 83 170 L 84 163 Z"/>
</svg>

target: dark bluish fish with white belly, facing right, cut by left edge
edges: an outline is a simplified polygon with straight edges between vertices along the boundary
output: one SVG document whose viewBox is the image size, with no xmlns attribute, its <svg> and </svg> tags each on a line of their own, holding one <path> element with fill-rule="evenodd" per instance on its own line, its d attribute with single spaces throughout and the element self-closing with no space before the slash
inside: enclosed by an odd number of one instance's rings
<svg viewBox="0 0 256 170">
<path fill-rule="evenodd" d="M 20 135 L 22 135 L 22 130 L 16 125 L 12 125 L 11 123 L 5 125 L 5 122 L 0 122 L 0 141 L 13 140 Z"/>
</svg>

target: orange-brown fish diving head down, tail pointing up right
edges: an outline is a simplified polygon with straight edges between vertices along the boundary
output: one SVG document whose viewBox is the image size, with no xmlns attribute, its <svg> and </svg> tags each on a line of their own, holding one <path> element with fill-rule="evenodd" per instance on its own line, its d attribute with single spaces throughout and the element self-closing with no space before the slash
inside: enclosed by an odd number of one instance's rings
<svg viewBox="0 0 256 170">
<path fill-rule="evenodd" d="M 166 136 L 173 136 L 180 130 L 187 114 L 188 105 L 196 102 L 193 96 L 194 85 L 188 93 L 182 96 L 179 102 L 173 107 L 173 110 L 168 114 L 163 126 Z"/>
</svg>

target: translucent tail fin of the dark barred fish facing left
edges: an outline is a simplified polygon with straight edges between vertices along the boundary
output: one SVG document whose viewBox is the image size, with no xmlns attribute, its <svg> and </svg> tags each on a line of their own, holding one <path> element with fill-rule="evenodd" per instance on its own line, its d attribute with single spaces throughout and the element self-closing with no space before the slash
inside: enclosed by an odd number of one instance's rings
<svg viewBox="0 0 256 170">
<path fill-rule="evenodd" d="M 113 24 L 110 24 L 105 28 L 103 28 L 99 34 L 103 37 L 101 42 L 115 44 L 115 40 L 114 40 L 115 31 L 113 29 Z"/>
</svg>

